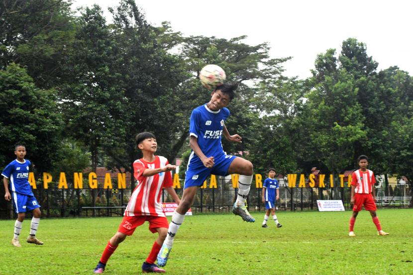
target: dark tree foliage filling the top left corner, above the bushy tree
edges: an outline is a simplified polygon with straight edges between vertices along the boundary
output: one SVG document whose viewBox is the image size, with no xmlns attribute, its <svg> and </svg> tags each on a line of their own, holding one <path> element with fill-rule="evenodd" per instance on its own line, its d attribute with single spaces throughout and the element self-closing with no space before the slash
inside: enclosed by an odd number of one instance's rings
<svg viewBox="0 0 413 275">
<path fill-rule="evenodd" d="M 0 68 L 27 68 L 39 88 L 53 88 L 73 40 L 75 20 L 68 0 L 2 1 Z"/>
</svg>

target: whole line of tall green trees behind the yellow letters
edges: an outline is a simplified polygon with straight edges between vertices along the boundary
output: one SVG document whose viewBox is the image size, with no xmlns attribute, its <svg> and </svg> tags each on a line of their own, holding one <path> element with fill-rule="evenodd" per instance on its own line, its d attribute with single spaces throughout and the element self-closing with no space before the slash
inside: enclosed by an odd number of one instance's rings
<svg viewBox="0 0 413 275">
<path fill-rule="evenodd" d="M 110 22 L 96 4 L 76 12 L 69 0 L 2 2 L 1 167 L 23 143 L 37 173 L 131 172 L 141 131 L 156 135 L 159 155 L 185 163 L 191 111 L 210 97 L 198 75 L 216 64 L 239 84 L 226 126 L 243 142 L 223 140 L 224 149 L 242 152 L 256 173 L 339 174 L 366 154 L 376 174 L 412 183 L 412 77 L 397 66 L 378 71 L 365 43 L 347 38 L 318 54 L 300 80 L 283 75 L 292 57 L 270 57 L 267 43 L 156 27 L 134 0 L 109 12 Z"/>
</svg>

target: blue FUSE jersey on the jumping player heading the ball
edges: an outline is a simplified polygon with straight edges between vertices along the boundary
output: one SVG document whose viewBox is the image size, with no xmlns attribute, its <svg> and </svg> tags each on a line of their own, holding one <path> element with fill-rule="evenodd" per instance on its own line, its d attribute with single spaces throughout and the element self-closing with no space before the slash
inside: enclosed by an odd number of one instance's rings
<svg viewBox="0 0 413 275">
<path fill-rule="evenodd" d="M 206 104 L 192 111 L 189 133 L 190 136 L 198 138 L 198 146 L 206 157 L 216 158 L 225 154 L 221 138 L 224 122 L 228 116 L 229 110 L 227 108 L 212 111 Z M 195 155 L 192 161 L 197 158 L 198 156 Z"/>
</svg>

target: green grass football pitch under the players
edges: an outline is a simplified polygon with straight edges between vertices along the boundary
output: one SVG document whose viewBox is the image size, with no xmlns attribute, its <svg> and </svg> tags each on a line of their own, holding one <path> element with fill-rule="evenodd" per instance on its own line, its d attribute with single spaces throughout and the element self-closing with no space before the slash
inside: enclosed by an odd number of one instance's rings
<svg viewBox="0 0 413 275">
<path fill-rule="evenodd" d="M 367 211 L 356 221 L 356 237 L 347 236 L 351 212 L 278 212 L 283 227 L 269 220 L 245 223 L 232 214 L 187 216 L 175 237 L 169 275 L 244 274 L 413 274 L 413 209 L 379 209 L 390 236 L 377 236 Z M 21 248 L 11 245 L 13 220 L 0 221 L 0 274 L 92 274 L 121 217 L 42 219 L 37 237 L 25 242 L 30 219 L 23 223 Z M 110 258 L 105 274 L 141 273 L 156 235 L 147 224 L 126 238 Z"/>
</svg>

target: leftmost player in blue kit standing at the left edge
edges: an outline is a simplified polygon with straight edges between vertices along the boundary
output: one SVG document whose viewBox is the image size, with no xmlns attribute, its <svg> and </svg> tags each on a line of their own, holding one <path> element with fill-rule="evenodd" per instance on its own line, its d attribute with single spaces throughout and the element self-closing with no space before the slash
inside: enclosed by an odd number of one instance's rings
<svg viewBox="0 0 413 275">
<path fill-rule="evenodd" d="M 29 178 L 30 161 L 25 160 L 26 148 L 23 145 L 17 145 L 14 149 L 14 154 L 17 159 L 10 162 L 1 176 L 3 176 L 3 183 L 5 189 L 4 198 L 10 200 L 13 198 L 14 209 L 17 213 L 17 220 L 14 223 L 14 237 L 11 240 L 11 244 L 15 247 L 21 247 L 19 242 L 19 235 L 24 218 L 26 217 L 26 211 L 33 211 L 33 218 L 31 219 L 30 235 L 27 237 L 27 242 L 42 245 L 43 242 L 36 238 L 37 227 L 40 222 L 40 205 L 37 202 L 34 194 L 31 190 Z M 11 194 L 9 191 L 9 182 Z"/>
</svg>

